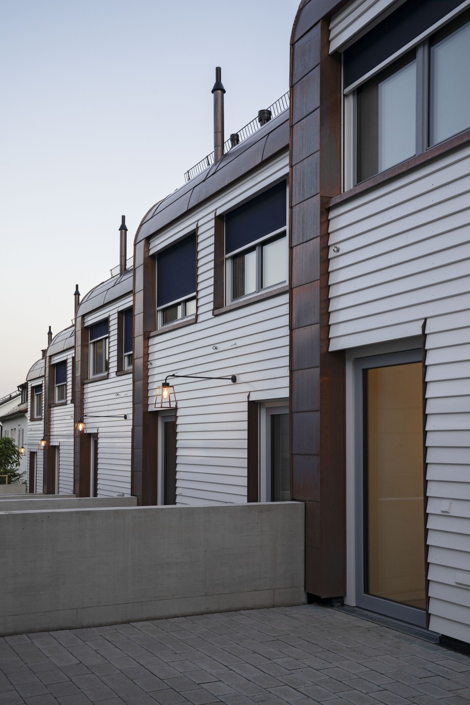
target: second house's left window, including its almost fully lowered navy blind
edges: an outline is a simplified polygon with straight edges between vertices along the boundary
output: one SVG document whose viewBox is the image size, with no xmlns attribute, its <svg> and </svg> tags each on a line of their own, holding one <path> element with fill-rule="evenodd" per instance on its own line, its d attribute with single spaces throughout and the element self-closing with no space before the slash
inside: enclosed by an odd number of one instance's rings
<svg viewBox="0 0 470 705">
<path fill-rule="evenodd" d="M 196 233 L 156 255 L 157 327 L 196 315 Z"/>
</svg>

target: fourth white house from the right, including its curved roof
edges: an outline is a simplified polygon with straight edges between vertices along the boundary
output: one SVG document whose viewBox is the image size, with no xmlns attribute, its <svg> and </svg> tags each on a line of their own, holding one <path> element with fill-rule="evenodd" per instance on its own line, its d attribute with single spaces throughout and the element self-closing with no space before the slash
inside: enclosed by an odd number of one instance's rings
<svg viewBox="0 0 470 705">
<path fill-rule="evenodd" d="M 49 413 L 49 494 L 73 493 L 74 356 L 75 326 L 69 326 L 52 338 L 46 353 L 47 393 L 44 403 Z"/>
</svg>

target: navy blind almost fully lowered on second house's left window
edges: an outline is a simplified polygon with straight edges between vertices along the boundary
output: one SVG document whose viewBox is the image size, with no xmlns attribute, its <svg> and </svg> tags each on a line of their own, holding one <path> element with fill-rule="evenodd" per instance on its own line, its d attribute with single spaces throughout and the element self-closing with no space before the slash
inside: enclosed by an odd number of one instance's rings
<svg viewBox="0 0 470 705">
<path fill-rule="evenodd" d="M 196 291 L 196 233 L 156 255 L 156 305 L 164 306 Z"/>
</svg>

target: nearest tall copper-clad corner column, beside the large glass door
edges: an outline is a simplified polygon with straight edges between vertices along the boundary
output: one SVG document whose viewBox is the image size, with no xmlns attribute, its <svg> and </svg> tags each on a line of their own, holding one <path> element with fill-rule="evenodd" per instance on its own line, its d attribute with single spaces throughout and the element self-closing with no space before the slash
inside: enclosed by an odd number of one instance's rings
<svg viewBox="0 0 470 705">
<path fill-rule="evenodd" d="M 345 594 L 345 355 L 328 351 L 328 203 L 341 188 L 341 63 L 329 18 L 297 13 L 290 67 L 290 424 L 292 499 L 306 503 L 305 589 Z M 328 13 L 328 16 L 327 16 Z"/>
</svg>

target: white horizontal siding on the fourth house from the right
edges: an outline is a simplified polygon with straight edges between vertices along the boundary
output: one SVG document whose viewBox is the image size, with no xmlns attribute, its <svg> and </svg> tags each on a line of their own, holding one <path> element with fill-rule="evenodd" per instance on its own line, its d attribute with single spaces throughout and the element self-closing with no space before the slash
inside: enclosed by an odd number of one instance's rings
<svg viewBox="0 0 470 705">
<path fill-rule="evenodd" d="M 58 446 L 58 493 L 73 493 L 73 399 L 72 399 L 72 358 L 75 348 L 63 350 L 51 357 L 51 364 L 67 362 L 66 403 L 51 407 L 50 440 L 51 446 Z M 50 390 L 55 394 L 54 387 Z"/>
</svg>

